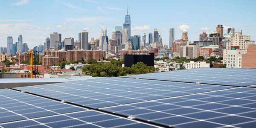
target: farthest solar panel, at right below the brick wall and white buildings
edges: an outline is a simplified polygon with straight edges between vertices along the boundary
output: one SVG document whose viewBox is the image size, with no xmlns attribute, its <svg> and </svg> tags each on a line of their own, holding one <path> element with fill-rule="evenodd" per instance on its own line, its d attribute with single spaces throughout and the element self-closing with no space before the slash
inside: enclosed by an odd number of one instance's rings
<svg viewBox="0 0 256 128">
<path fill-rule="evenodd" d="M 172 72 L 149 73 L 125 78 L 154 79 L 164 81 L 198 82 L 203 84 L 218 84 L 244 87 L 256 83 L 256 69 L 232 69 L 223 68 L 197 68 L 190 70 L 177 70 Z"/>
</svg>

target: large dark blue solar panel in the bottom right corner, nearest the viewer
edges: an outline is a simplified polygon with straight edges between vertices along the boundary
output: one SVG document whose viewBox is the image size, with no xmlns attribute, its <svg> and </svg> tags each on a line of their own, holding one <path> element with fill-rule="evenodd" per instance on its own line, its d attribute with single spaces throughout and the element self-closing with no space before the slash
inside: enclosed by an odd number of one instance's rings
<svg viewBox="0 0 256 128">
<path fill-rule="evenodd" d="M 255 88 L 237 87 L 100 109 L 180 128 L 253 128 L 256 122 L 255 94 Z"/>
</svg>

